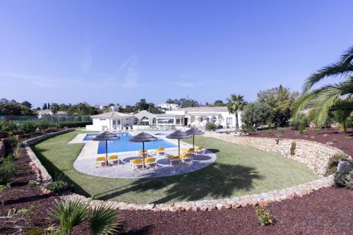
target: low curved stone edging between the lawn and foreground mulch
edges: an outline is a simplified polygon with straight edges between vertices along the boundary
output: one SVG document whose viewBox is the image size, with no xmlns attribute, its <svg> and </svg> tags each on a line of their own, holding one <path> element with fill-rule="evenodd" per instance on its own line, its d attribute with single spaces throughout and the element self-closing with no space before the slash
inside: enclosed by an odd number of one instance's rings
<svg viewBox="0 0 353 235">
<path fill-rule="evenodd" d="M 281 190 L 270 191 L 267 193 L 259 193 L 252 195 L 244 195 L 235 198 L 224 198 L 217 200 L 198 200 L 180 203 L 170 203 L 170 204 L 128 204 L 128 203 L 118 203 L 113 201 L 102 201 L 102 200 L 91 200 L 85 198 L 83 195 L 78 195 L 76 193 L 71 193 L 68 195 L 62 195 L 61 199 L 64 200 L 90 200 L 90 205 L 95 207 L 97 205 L 109 205 L 114 209 L 119 210 L 153 210 L 153 211 L 171 211 L 171 212 L 183 212 L 183 211 L 211 211 L 211 210 L 222 210 L 230 208 L 239 208 L 247 205 L 261 205 L 265 206 L 268 203 L 280 202 L 282 200 L 292 199 L 301 197 L 303 195 L 311 193 L 313 190 L 318 190 L 320 188 L 328 188 L 333 186 L 333 175 L 318 179 L 316 181 L 311 181 L 309 183 L 303 183 L 299 186 L 294 186 L 290 188 L 285 188 Z"/>
</svg>

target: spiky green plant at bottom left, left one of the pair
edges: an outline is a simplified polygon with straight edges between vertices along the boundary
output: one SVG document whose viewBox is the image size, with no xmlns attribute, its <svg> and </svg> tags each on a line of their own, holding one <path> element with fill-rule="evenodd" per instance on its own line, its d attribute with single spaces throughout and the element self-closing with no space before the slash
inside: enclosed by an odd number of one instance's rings
<svg viewBox="0 0 353 235">
<path fill-rule="evenodd" d="M 73 227 L 83 222 L 88 204 L 77 199 L 56 200 L 52 217 L 60 223 L 63 234 L 69 234 Z"/>
</svg>

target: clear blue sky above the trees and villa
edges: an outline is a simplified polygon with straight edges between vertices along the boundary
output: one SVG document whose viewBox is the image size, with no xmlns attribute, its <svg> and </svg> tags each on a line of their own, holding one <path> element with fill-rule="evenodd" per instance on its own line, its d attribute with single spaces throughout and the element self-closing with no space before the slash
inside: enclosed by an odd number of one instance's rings
<svg viewBox="0 0 353 235">
<path fill-rule="evenodd" d="M 353 42 L 353 1 L 0 0 L 0 97 L 134 104 L 256 100 Z"/>
</svg>

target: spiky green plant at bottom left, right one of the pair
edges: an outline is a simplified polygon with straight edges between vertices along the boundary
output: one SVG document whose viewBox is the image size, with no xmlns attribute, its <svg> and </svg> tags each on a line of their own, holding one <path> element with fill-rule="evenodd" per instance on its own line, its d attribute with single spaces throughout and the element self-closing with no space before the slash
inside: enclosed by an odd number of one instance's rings
<svg viewBox="0 0 353 235">
<path fill-rule="evenodd" d="M 119 227 L 119 214 L 109 205 L 98 205 L 88 210 L 87 221 L 93 235 L 114 234 Z"/>
</svg>

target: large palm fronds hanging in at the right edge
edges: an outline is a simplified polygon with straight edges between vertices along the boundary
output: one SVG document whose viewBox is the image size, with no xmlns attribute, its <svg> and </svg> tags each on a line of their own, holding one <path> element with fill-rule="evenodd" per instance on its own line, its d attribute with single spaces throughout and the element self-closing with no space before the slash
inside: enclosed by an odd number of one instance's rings
<svg viewBox="0 0 353 235">
<path fill-rule="evenodd" d="M 330 112 L 344 111 L 351 115 L 353 111 L 353 46 L 342 56 L 340 61 L 325 66 L 313 73 L 303 86 L 303 95 L 294 103 L 294 118 L 299 111 L 309 108 L 309 120 L 317 126 L 323 126 Z M 323 85 L 312 90 L 313 85 L 324 78 L 344 78 L 340 83 Z M 349 116 L 345 115 L 345 116 Z M 346 118 L 347 119 L 347 118 Z M 342 126 L 345 131 L 345 125 Z"/>
</svg>

